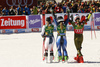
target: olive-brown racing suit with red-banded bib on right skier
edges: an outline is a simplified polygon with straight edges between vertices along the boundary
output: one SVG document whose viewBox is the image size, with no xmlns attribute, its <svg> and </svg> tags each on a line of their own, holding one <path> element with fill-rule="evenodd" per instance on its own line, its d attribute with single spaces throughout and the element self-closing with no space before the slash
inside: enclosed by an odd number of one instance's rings
<svg viewBox="0 0 100 67">
<path fill-rule="evenodd" d="M 90 16 L 91 14 L 89 14 L 88 20 L 90 19 Z M 74 43 L 77 49 L 78 56 L 82 56 L 81 48 L 83 42 L 83 30 L 84 30 L 84 25 L 85 23 L 87 23 L 88 20 L 82 18 L 80 24 L 78 24 L 77 22 L 70 21 L 70 23 L 74 27 Z"/>
</svg>

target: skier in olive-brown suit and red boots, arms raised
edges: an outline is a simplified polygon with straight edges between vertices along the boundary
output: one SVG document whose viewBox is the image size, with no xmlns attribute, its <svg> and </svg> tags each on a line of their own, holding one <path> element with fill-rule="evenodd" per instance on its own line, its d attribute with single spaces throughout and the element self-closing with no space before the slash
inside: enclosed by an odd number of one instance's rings
<svg viewBox="0 0 100 67">
<path fill-rule="evenodd" d="M 77 49 L 77 57 L 75 57 L 74 59 L 78 63 L 84 63 L 83 55 L 81 53 L 82 42 L 83 42 L 83 30 L 84 30 L 84 24 L 87 23 L 87 21 L 89 21 L 91 15 L 92 13 L 88 14 L 86 18 L 85 16 L 82 16 L 80 19 L 80 16 L 76 14 L 74 16 L 75 22 L 73 22 L 73 15 L 71 15 L 71 17 L 69 18 L 69 22 L 74 27 L 74 43 Z"/>
</svg>

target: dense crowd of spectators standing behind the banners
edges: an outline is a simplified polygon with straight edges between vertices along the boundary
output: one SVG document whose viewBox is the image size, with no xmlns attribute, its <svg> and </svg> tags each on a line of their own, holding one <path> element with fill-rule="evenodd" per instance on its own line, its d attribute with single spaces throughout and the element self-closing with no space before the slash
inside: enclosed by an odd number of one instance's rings
<svg viewBox="0 0 100 67">
<path fill-rule="evenodd" d="M 100 12 L 100 1 L 85 1 L 85 2 L 41 2 L 37 6 L 33 6 L 33 8 L 28 7 L 26 5 L 24 8 L 21 5 L 18 5 L 17 8 L 13 6 L 10 9 L 7 9 L 0 6 L 0 15 L 36 15 L 42 14 L 42 11 L 45 11 L 46 14 L 51 14 L 52 11 L 55 13 L 89 13 L 92 12 Z"/>
</svg>

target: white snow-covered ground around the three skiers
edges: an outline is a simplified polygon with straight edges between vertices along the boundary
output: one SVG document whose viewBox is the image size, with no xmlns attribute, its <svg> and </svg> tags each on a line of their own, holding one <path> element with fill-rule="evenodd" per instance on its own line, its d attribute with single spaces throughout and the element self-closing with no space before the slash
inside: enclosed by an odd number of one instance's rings
<svg viewBox="0 0 100 67">
<path fill-rule="evenodd" d="M 40 32 L 0 34 L 0 67 L 100 67 L 100 31 L 91 40 L 91 31 L 84 31 L 82 53 L 85 63 L 74 61 L 76 49 L 74 32 L 67 31 L 68 63 L 44 63 L 42 61 L 42 37 Z M 54 33 L 56 39 L 56 32 Z M 54 52 L 56 53 L 56 44 Z"/>
</svg>

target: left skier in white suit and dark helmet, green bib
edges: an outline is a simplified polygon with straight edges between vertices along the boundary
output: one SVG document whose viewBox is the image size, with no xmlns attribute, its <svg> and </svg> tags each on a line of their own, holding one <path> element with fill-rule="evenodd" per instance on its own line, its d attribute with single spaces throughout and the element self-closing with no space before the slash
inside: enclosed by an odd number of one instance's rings
<svg viewBox="0 0 100 67">
<path fill-rule="evenodd" d="M 45 53 L 43 60 L 46 60 L 48 62 L 48 49 L 50 49 L 50 62 L 54 59 L 53 54 L 53 45 L 54 45 L 54 36 L 53 36 L 53 30 L 54 25 L 52 25 L 52 21 L 50 17 L 47 17 L 46 19 L 47 24 L 43 26 L 41 35 L 44 38 L 44 45 L 45 45 Z"/>
</svg>

